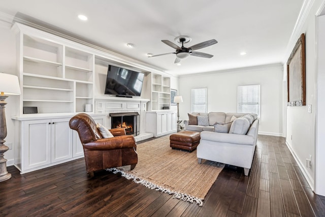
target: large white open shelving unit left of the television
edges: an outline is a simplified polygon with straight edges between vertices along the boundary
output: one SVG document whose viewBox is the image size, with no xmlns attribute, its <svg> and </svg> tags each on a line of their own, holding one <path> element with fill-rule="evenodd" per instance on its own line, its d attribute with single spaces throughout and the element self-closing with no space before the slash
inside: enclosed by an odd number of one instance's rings
<svg viewBox="0 0 325 217">
<path fill-rule="evenodd" d="M 64 43 L 59 37 L 15 24 L 20 114 L 23 107 L 38 113 L 84 112 L 94 104 L 94 54 Z"/>
</svg>

